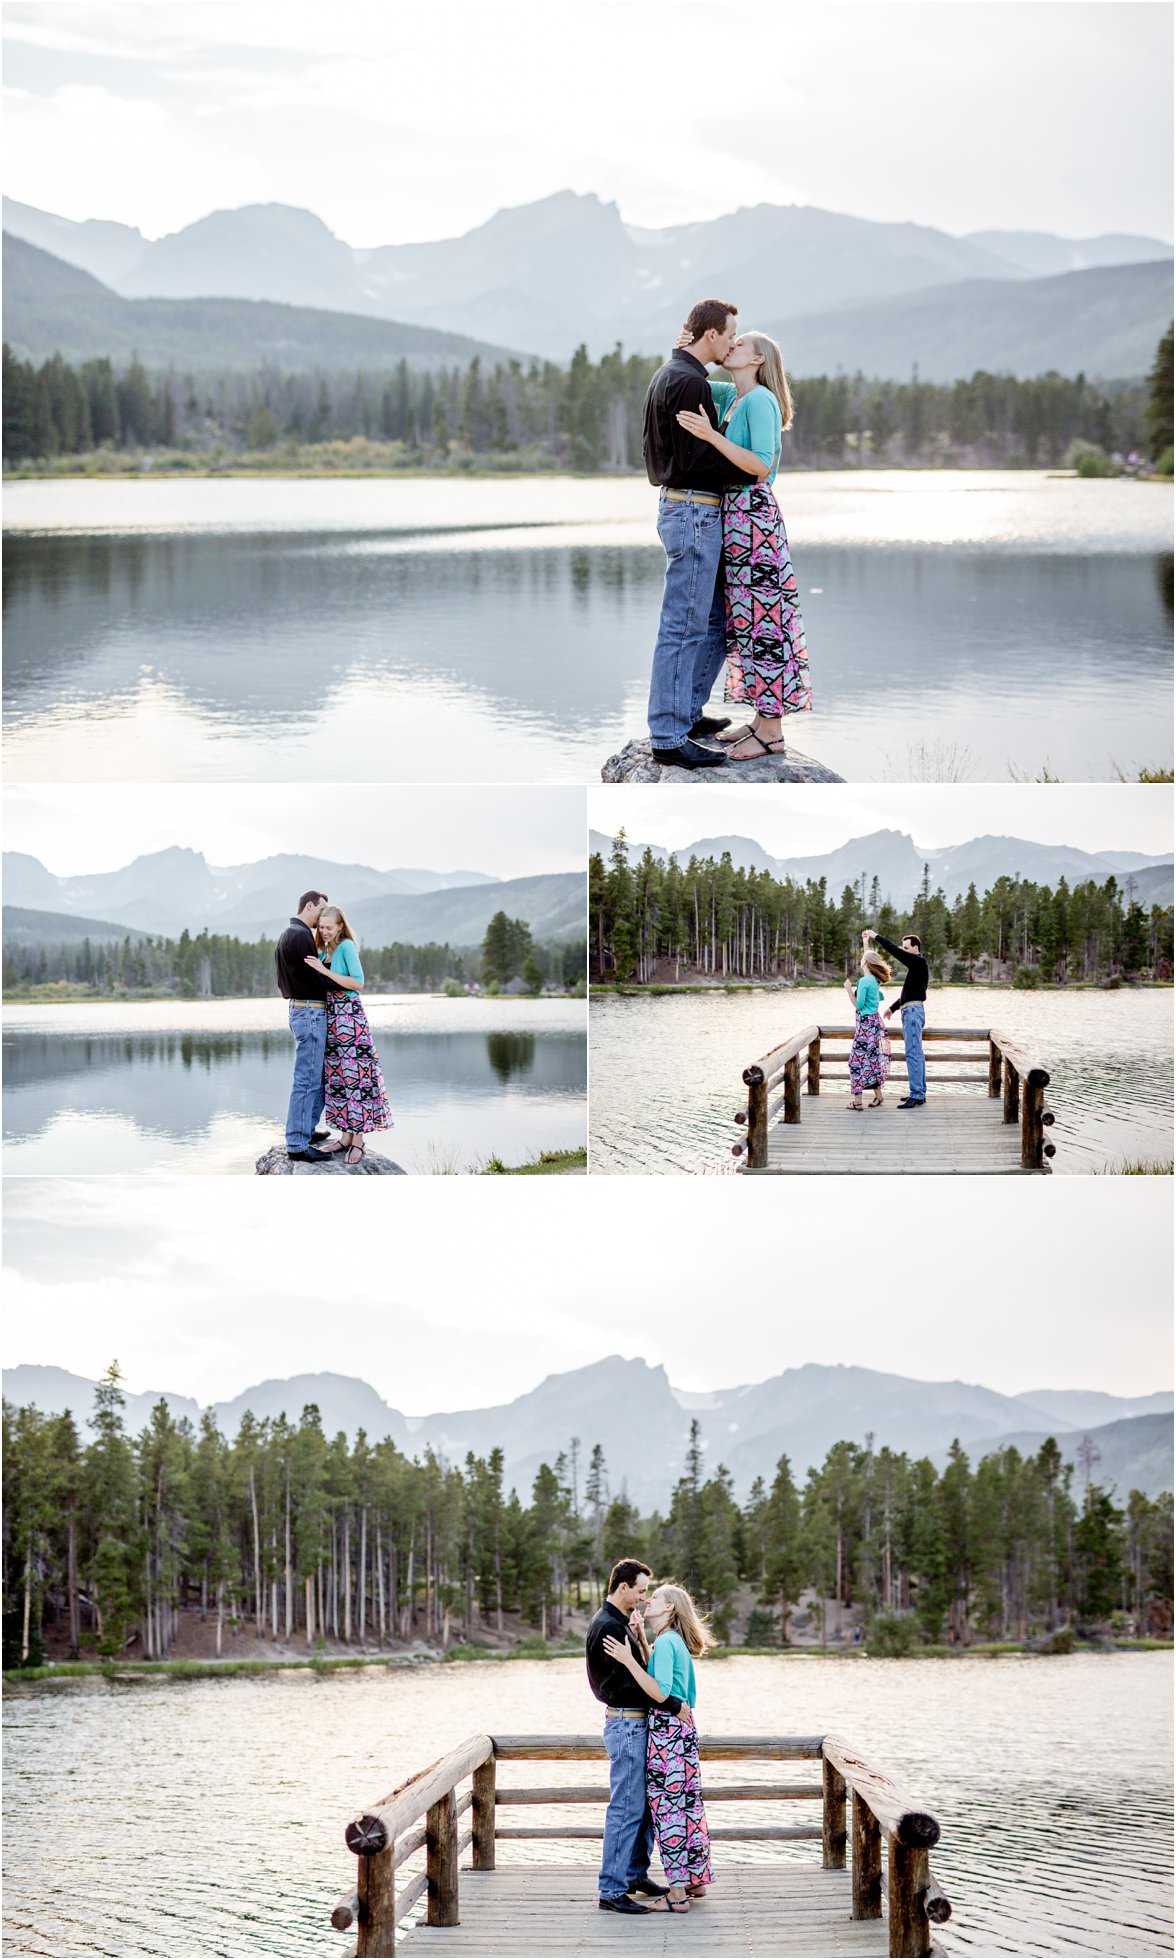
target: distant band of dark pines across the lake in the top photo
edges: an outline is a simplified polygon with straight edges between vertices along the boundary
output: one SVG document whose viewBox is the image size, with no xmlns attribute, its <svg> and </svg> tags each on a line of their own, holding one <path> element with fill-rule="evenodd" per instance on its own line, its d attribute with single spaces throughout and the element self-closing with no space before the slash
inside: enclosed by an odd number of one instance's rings
<svg viewBox="0 0 1176 1960">
<path fill-rule="evenodd" d="M 1168 378 L 1172 351 L 1168 341 Z M 498 466 L 582 472 L 641 468 L 641 404 L 657 359 L 619 347 L 592 361 L 584 347 L 566 367 L 506 361 L 419 372 L 353 376 L 274 367 L 149 374 L 139 359 L 71 367 L 61 355 L 33 367 L 4 347 L 4 463 L 18 466 L 96 451 L 165 451 L 174 466 L 206 468 L 241 455 L 329 445 L 378 445 L 368 466 L 447 466 L 498 459 Z M 792 382 L 796 423 L 784 463 L 796 466 L 1037 466 L 1058 465 L 1072 445 L 1160 455 L 1166 445 L 1162 347 L 1151 382 L 1100 386 L 1086 376 L 976 372 L 956 382 L 870 380 L 815 374 Z M 353 465 L 363 466 L 361 455 Z"/>
</svg>

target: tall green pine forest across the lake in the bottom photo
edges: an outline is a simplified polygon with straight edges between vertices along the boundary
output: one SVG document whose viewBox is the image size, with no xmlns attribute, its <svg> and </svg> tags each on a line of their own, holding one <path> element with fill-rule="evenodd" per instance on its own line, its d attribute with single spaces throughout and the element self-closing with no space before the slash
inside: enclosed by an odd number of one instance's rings
<svg viewBox="0 0 1176 1960">
<path fill-rule="evenodd" d="M 1117 1507 L 1080 1446 L 1082 1490 L 1056 1443 L 1007 1446 L 972 1470 L 953 1445 L 929 1458 L 837 1443 L 804 1488 L 788 1456 L 739 1505 L 729 1472 L 706 1472 L 690 1425 L 664 1517 L 612 1492 L 600 1445 L 580 1439 L 541 1464 L 529 1499 L 508 1492 L 504 1452 L 461 1466 L 359 1431 L 327 1437 L 312 1403 L 241 1417 L 229 1443 L 212 1411 L 174 1421 L 159 1399 L 125 1431 L 118 1364 L 94 1396 L 90 1441 L 71 1413 L 4 1403 L 4 1664 L 57 1652 L 163 1658 L 180 1615 L 308 1648 L 331 1639 L 443 1646 L 519 1615 L 559 1637 L 570 1609 L 600 1601 L 610 1566 L 643 1556 L 674 1574 L 731 1637 L 733 1601 L 759 1599 L 755 1644 L 802 1631 L 806 1592 L 837 1641 L 853 1609 L 878 1644 L 1017 1639 L 1105 1625 L 1172 1627 L 1172 1499 L 1131 1492 Z M 686 1441 L 686 1439 L 684 1439 Z"/>
</svg>

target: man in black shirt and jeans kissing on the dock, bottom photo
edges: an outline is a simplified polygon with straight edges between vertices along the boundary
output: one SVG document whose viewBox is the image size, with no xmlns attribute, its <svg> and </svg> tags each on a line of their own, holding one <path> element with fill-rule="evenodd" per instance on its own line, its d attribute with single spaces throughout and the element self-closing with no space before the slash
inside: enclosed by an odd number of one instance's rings
<svg viewBox="0 0 1176 1960">
<path fill-rule="evenodd" d="M 662 1707 L 676 1715 L 682 1707 L 678 1695 L 666 1695 L 655 1703 L 637 1686 L 629 1670 L 619 1660 L 610 1660 L 604 1641 L 625 1641 L 641 1666 L 647 1666 L 649 1652 L 641 1631 L 641 1601 L 649 1592 L 651 1570 L 639 1558 L 621 1558 L 612 1568 L 608 1597 L 588 1627 L 584 1658 L 588 1664 L 588 1686 L 598 1701 L 604 1701 L 604 1746 L 610 1760 L 608 1813 L 604 1819 L 604 1856 L 600 1860 L 600 1911 L 602 1913 L 647 1913 L 641 1893 L 647 1899 L 661 1899 L 670 1889 L 657 1886 L 649 1876 L 653 1856 L 653 1819 L 645 1797 L 645 1742 L 647 1717 L 651 1707 Z"/>
</svg>

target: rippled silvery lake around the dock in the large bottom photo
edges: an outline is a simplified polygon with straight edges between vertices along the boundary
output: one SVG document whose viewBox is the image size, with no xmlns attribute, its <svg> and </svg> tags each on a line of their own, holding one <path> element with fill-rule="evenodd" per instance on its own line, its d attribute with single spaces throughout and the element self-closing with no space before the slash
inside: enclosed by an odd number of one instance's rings
<svg viewBox="0 0 1176 1960">
<path fill-rule="evenodd" d="M 935 1811 L 949 1952 L 1164 1954 L 1170 1676 L 1168 1654 L 733 1658 L 702 1666 L 698 1713 L 704 1733 L 837 1731 Z M 598 1729 L 578 1658 L 6 1688 L 6 1952 L 341 1960 L 355 1935 L 333 1935 L 329 1911 L 355 1878 L 343 1825 L 357 1809 L 466 1735 Z M 539 1770 L 502 1778 L 600 1782 L 590 1764 Z M 762 1805 L 723 1803 L 721 1821 L 753 1809 L 762 1821 Z M 817 1805 L 792 1809 L 815 1821 Z M 723 1864 L 819 1856 L 717 1844 L 717 1884 Z M 498 1858 L 580 1864 L 596 1917 L 598 1844 L 512 1842 Z M 617 1933 L 617 1954 L 631 1944 Z"/>
</svg>

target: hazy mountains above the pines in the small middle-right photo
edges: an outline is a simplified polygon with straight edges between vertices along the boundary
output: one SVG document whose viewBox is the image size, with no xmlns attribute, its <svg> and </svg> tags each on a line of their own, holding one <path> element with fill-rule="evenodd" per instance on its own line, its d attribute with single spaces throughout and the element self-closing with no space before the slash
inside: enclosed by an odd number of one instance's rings
<svg viewBox="0 0 1176 1960">
<path fill-rule="evenodd" d="M 608 862 L 612 837 L 602 831 L 588 833 L 588 849 L 600 851 Z M 643 843 L 629 841 L 629 864 L 645 853 Z M 943 888 L 949 902 L 966 898 L 968 886 L 986 892 L 998 878 L 1029 878 L 1033 884 L 1056 886 L 1064 878 L 1070 886 L 1086 878 L 1103 882 L 1115 878 L 1119 888 L 1127 878 L 1141 906 L 1172 904 L 1172 853 L 1149 857 L 1143 851 L 1078 851 L 1074 845 L 1041 845 L 1025 837 L 972 837 L 962 845 L 943 845 L 935 851 L 919 847 L 907 831 L 872 831 L 868 837 L 851 837 L 815 857 L 782 858 L 772 857 L 753 837 L 700 837 L 680 851 L 666 851 L 664 845 L 649 845 L 662 864 L 670 857 L 682 866 L 692 857 L 715 860 L 723 851 L 731 853 L 731 862 L 745 870 L 766 870 L 774 878 L 792 878 L 796 884 L 825 878 L 831 898 L 841 898 L 847 884 L 866 886 L 878 878 L 882 900 L 892 906 L 909 906 L 923 882 L 923 866 L 931 872 L 931 890 Z"/>
</svg>

